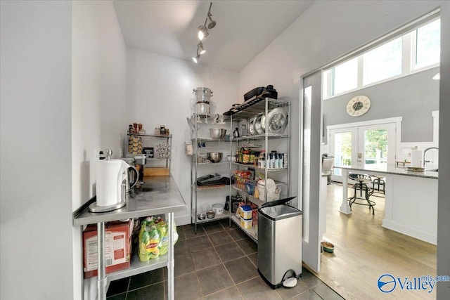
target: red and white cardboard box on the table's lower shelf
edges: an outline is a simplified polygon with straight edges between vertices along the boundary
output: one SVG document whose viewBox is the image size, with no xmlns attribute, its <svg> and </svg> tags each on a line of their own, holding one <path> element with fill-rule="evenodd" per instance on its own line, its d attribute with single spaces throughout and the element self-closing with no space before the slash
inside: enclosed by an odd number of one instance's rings
<svg viewBox="0 0 450 300">
<path fill-rule="evenodd" d="M 131 262 L 131 236 L 133 219 L 105 224 L 106 273 L 129 268 Z M 83 231 L 84 278 L 97 275 L 97 225 L 91 224 Z"/>
</svg>

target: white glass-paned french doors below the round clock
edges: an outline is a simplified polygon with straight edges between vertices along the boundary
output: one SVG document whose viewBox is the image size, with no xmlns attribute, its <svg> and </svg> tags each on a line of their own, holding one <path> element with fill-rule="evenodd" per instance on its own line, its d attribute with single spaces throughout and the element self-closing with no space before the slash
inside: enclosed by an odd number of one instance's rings
<svg viewBox="0 0 450 300">
<path fill-rule="evenodd" d="M 335 167 L 385 171 L 394 165 L 396 124 L 373 124 L 330 129 L 330 152 Z M 331 180 L 342 182 L 341 169 L 333 169 Z"/>
</svg>

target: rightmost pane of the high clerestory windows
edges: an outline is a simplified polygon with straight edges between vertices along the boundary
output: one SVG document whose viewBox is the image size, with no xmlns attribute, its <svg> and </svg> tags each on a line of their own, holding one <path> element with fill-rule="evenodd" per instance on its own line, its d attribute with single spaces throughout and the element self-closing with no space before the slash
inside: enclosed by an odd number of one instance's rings
<svg viewBox="0 0 450 300">
<path fill-rule="evenodd" d="M 415 68 L 439 63 L 441 53 L 441 20 L 437 19 L 416 30 Z"/>
</svg>

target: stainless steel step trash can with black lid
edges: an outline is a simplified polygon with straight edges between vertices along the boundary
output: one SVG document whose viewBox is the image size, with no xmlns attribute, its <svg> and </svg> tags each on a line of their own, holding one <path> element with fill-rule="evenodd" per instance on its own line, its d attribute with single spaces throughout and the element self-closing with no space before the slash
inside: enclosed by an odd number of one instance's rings
<svg viewBox="0 0 450 300">
<path fill-rule="evenodd" d="M 272 289 L 302 274 L 302 211 L 286 204 L 294 198 L 258 209 L 258 273 Z"/>
</svg>

